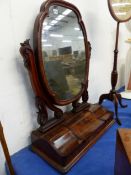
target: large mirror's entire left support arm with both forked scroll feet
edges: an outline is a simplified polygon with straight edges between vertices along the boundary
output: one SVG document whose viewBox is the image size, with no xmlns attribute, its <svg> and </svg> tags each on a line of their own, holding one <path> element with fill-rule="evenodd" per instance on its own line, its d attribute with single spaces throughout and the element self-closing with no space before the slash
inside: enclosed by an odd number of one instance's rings
<svg viewBox="0 0 131 175">
<path fill-rule="evenodd" d="M 20 47 L 20 53 L 24 60 L 24 65 L 28 70 L 29 77 L 31 80 L 31 85 L 35 93 L 35 101 L 36 101 L 36 107 L 38 108 L 38 117 L 37 121 L 40 125 L 40 130 L 43 130 L 45 125 L 48 122 L 48 112 L 47 107 L 54 111 L 55 118 L 59 119 L 63 116 L 63 111 L 59 108 L 57 108 L 55 105 L 51 104 L 47 98 L 45 97 L 45 92 L 43 92 L 39 76 L 38 76 L 38 70 L 35 63 L 35 56 L 34 52 L 29 44 L 29 39 L 24 41 L 24 43 L 21 43 Z"/>
</svg>

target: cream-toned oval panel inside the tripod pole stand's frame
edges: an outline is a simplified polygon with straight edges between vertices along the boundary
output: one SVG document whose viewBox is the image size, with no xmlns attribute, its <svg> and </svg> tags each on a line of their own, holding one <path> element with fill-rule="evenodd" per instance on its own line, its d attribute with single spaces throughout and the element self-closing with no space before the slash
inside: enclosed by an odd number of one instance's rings
<svg viewBox="0 0 131 175">
<path fill-rule="evenodd" d="M 131 0 L 111 0 L 111 6 L 119 20 L 127 20 L 131 17 Z"/>
</svg>

